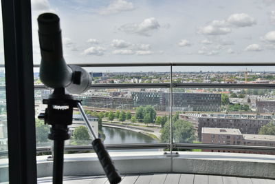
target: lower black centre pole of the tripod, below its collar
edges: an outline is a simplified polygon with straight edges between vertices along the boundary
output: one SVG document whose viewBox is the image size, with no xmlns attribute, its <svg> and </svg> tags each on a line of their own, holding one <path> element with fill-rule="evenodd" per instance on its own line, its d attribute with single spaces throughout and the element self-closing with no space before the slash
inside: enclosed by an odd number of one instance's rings
<svg viewBox="0 0 275 184">
<path fill-rule="evenodd" d="M 54 140 L 53 184 L 63 183 L 64 141 Z"/>
</svg>

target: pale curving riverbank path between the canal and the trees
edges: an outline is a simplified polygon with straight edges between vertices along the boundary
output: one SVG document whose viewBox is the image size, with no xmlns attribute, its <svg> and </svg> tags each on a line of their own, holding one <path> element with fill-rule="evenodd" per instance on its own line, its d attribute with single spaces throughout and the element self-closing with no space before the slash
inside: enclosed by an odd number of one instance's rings
<svg viewBox="0 0 275 184">
<path fill-rule="evenodd" d="M 123 125 L 119 123 L 106 123 L 106 122 L 103 122 L 102 126 L 115 127 L 115 128 L 120 128 L 124 130 L 130 130 L 140 134 L 145 134 L 147 136 L 151 136 L 153 139 L 157 141 L 160 140 L 160 136 L 161 136 L 161 133 L 159 132 L 160 128 L 155 128 L 155 127 L 137 127 L 133 125 Z"/>
</svg>

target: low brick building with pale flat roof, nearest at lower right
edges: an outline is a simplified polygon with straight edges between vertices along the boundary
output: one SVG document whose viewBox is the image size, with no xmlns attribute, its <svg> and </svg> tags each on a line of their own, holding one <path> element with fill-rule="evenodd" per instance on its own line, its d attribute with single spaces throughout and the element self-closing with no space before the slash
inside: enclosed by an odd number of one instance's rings
<svg viewBox="0 0 275 184">
<path fill-rule="evenodd" d="M 259 134 L 242 134 L 236 128 L 215 128 L 203 127 L 201 130 L 201 142 L 206 144 L 225 144 L 225 145 L 256 145 L 256 146 L 275 146 L 275 136 Z M 240 152 L 239 150 L 203 150 L 204 152 Z M 241 151 L 242 153 L 253 154 L 275 154 L 266 151 Z"/>
</svg>

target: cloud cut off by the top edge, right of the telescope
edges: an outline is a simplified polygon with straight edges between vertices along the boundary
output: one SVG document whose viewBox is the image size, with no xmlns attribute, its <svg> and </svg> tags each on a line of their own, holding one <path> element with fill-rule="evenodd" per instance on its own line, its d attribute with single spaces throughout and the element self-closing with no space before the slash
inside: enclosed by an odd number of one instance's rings
<svg viewBox="0 0 275 184">
<path fill-rule="evenodd" d="M 133 9 L 133 3 L 124 0 L 116 0 L 110 3 L 109 6 L 102 8 L 99 13 L 102 15 L 117 14 L 120 12 L 131 11 Z"/>
</svg>

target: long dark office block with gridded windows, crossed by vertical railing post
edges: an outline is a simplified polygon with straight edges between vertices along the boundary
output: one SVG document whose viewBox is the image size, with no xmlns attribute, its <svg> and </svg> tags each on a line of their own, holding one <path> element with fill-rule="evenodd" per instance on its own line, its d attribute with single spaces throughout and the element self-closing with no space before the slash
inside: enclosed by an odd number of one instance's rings
<svg viewBox="0 0 275 184">
<path fill-rule="evenodd" d="M 168 92 L 132 92 L 135 107 L 152 105 L 156 110 L 168 111 L 170 93 Z M 173 93 L 174 111 L 219 112 L 221 110 L 221 94 L 212 93 Z"/>
</svg>

